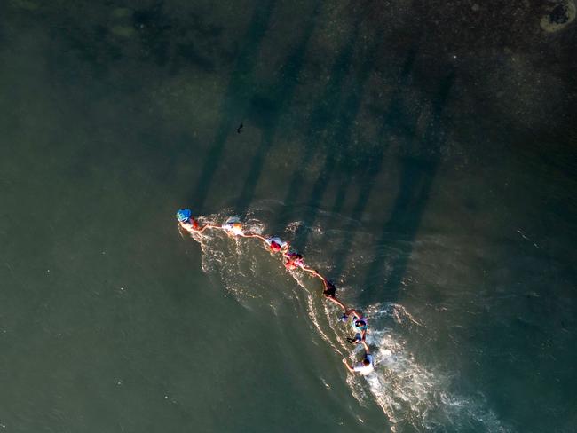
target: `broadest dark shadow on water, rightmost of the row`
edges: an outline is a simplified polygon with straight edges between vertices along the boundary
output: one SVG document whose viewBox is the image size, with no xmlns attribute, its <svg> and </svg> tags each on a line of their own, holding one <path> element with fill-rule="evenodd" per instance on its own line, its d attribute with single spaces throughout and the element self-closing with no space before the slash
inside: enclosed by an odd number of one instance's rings
<svg viewBox="0 0 577 433">
<path fill-rule="evenodd" d="M 383 288 L 367 290 L 364 303 L 383 300 L 383 292 L 391 299 L 397 299 L 399 287 L 407 271 L 407 263 L 413 250 L 413 240 L 421 224 L 424 210 L 429 201 L 431 186 L 439 168 L 439 149 L 442 146 L 442 112 L 449 92 L 454 84 L 454 71 L 441 81 L 437 97 L 431 102 L 432 119 L 423 134 L 423 142 L 431 149 L 429 158 L 401 158 L 399 192 L 391 210 L 390 218 L 383 225 L 380 238 L 375 243 L 365 287 L 380 286 L 384 272 Z M 415 143 L 415 140 L 413 140 Z M 385 252 L 395 244 L 396 253 L 386 269 Z"/>
</svg>

